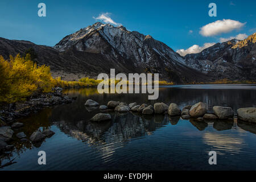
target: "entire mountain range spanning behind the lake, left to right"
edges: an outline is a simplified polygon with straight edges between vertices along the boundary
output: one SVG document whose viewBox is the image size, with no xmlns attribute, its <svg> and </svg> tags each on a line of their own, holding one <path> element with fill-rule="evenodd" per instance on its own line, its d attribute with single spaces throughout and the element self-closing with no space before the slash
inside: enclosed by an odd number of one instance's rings
<svg viewBox="0 0 256 182">
<path fill-rule="evenodd" d="M 221 78 L 255 80 L 255 34 L 184 57 L 150 35 L 99 22 L 65 36 L 54 47 L 0 38 L 0 55 L 5 59 L 30 48 L 37 54 L 36 63 L 49 65 L 53 77 L 64 80 L 109 75 L 110 68 L 116 74 L 159 73 L 160 80 L 176 84 Z"/>
</svg>

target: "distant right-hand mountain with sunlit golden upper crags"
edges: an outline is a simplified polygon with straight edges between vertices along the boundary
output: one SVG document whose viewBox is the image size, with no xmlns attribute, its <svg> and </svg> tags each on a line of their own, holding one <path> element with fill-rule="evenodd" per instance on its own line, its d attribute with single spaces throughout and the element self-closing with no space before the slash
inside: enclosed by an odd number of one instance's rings
<svg viewBox="0 0 256 182">
<path fill-rule="evenodd" d="M 213 74 L 216 80 L 256 79 L 256 33 L 245 40 L 214 44 L 200 53 L 185 55 L 185 63 L 200 72 Z"/>
</svg>

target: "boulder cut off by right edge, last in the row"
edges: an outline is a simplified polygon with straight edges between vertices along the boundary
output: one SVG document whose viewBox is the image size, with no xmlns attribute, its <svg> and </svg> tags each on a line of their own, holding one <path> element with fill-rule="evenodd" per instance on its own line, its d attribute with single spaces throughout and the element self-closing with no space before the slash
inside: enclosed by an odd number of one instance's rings
<svg viewBox="0 0 256 182">
<path fill-rule="evenodd" d="M 256 107 L 237 109 L 237 115 L 243 121 L 256 122 Z"/>
</svg>

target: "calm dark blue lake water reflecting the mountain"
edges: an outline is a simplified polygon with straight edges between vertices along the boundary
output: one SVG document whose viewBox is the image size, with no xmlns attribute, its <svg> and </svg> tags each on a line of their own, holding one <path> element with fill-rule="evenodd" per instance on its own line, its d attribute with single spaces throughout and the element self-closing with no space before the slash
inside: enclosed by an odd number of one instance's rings
<svg viewBox="0 0 256 182">
<path fill-rule="evenodd" d="M 77 100 L 49 107 L 20 119 L 30 136 L 36 130 L 55 132 L 42 143 L 13 141 L 15 150 L 1 156 L 0 170 L 255 170 L 256 125 L 247 122 L 198 122 L 168 115 L 110 113 L 112 121 L 93 123 L 99 110 L 84 106 L 91 98 L 108 101 L 154 104 L 175 102 L 180 109 L 203 101 L 209 111 L 214 105 L 256 107 L 255 85 L 180 85 L 159 88 L 159 99 L 146 94 L 98 94 L 97 89 L 66 90 Z M 15 131 L 18 133 L 19 130 Z M 46 151 L 47 165 L 38 164 L 38 151 Z M 208 152 L 217 152 L 217 165 L 208 163 Z"/>
</svg>

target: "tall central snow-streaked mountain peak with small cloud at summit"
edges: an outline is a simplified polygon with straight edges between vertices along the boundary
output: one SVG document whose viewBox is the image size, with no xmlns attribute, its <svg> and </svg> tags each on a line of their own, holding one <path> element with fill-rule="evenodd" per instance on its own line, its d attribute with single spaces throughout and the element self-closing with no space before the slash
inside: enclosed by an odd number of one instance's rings
<svg viewBox="0 0 256 182">
<path fill-rule="evenodd" d="M 80 59 L 92 54 L 100 56 L 97 70 L 109 73 L 110 68 L 123 73 L 159 73 L 159 77 L 176 83 L 209 80 L 189 68 L 185 60 L 166 44 L 150 35 L 127 31 L 125 27 L 95 23 L 63 38 L 54 48 L 60 52 L 74 52 Z M 92 63 L 91 63 L 92 64 Z"/>
</svg>

